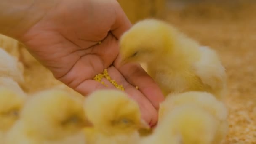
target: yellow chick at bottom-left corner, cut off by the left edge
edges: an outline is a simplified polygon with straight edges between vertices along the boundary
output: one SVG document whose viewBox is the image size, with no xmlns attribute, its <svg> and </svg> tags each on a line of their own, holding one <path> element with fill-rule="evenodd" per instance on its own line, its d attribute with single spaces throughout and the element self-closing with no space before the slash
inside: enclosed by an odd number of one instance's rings
<svg viewBox="0 0 256 144">
<path fill-rule="evenodd" d="M 0 144 L 5 144 L 5 134 L 19 119 L 25 98 L 21 93 L 0 86 Z"/>
</svg>

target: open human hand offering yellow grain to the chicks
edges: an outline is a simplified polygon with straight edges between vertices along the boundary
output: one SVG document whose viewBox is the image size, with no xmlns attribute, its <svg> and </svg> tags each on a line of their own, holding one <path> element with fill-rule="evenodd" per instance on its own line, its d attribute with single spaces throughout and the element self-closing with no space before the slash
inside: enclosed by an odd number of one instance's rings
<svg viewBox="0 0 256 144">
<path fill-rule="evenodd" d="M 3 33 L 24 43 L 58 80 L 87 95 L 106 88 L 92 79 L 108 69 L 139 102 L 142 117 L 150 125 L 157 123 L 157 109 L 164 97 L 152 78 L 136 64 L 112 65 L 119 51 L 118 39 L 131 27 L 116 0 L 36 0 L 16 24 L 26 30 Z"/>
</svg>

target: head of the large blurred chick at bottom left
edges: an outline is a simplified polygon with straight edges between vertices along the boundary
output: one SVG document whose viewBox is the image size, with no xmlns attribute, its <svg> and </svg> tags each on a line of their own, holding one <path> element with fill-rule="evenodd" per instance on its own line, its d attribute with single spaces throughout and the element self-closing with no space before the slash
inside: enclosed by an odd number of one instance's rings
<svg viewBox="0 0 256 144">
<path fill-rule="evenodd" d="M 90 123 L 83 102 L 61 90 L 46 90 L 32 96 L 21 113 L 28 133 L 43 139 L 61 139 Z"/>
</svg>

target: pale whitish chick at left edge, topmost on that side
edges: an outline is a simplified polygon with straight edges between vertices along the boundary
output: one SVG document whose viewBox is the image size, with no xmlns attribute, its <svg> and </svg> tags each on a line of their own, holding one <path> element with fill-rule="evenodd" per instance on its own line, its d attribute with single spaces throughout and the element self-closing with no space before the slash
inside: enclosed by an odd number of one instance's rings
<svg viewBox="0 0 256 144">
<path fill-rule="evenodd" d="M 14 56 L 0 48 L 0 77 L 11 77 L 17 83 L 24 83 L 24 67 Z"/>
</svg>

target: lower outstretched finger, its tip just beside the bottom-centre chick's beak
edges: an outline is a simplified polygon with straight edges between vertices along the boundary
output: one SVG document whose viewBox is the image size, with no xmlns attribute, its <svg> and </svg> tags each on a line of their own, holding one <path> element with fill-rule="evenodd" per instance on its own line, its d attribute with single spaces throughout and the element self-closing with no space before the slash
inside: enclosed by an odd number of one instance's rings
<svg viewBox="0 0 256 144">
<path fill-rule="evenodd" d="M 112 80 L 115 80 L 117 84 L 123 84 L 125 92 L 138 102 L 142 118 L 149 123 L 149 125 L 155 125 L 157 123 L 158 114 L 151 102 L 133 85 L 128 83 L 115 67 L 109 67 L 108 73 Z"/>
</svg>

